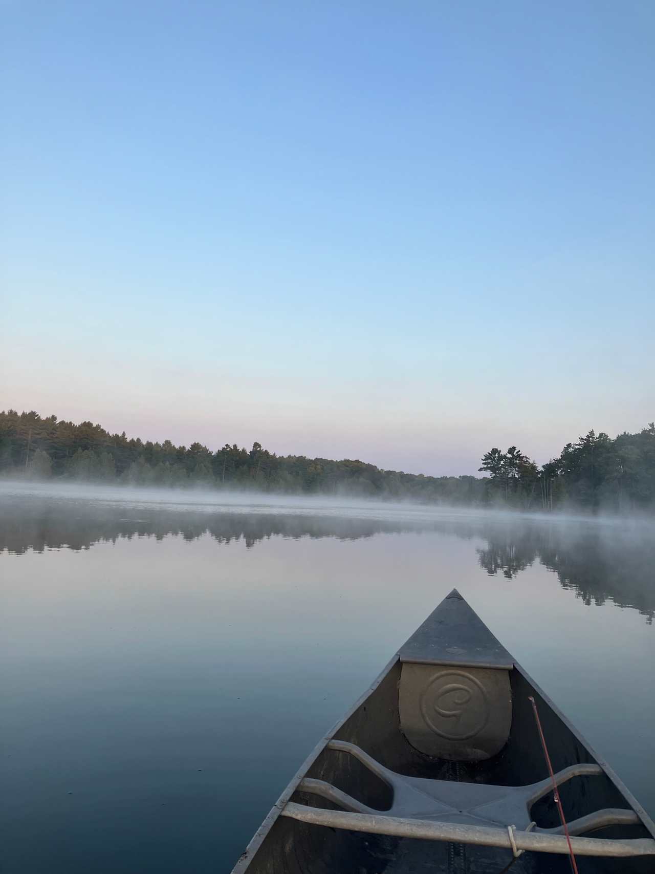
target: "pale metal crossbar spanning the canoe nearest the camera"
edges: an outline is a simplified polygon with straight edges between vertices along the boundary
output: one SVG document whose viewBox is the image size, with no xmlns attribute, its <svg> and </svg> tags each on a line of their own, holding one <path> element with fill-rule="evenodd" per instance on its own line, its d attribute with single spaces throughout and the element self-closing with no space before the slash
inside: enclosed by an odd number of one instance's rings
<svg viewBox="0 0 655 874">
<path fill-rule="evenodd" d="M 507 850 L 513 849 L 507 829 L 459 825 L 456 822 L 404 819 L 400 816 L 344 813 L 341 810 L 310 808 L 304 804 L 295 804 L 293 801 L 286 805 L 281 815 L 299 820 L 300 822 L 327 826 L 332 829 L 364 831 L 373 835 L 423 838 L 428 841 L 473 843 L 485 847 L 504 847 Z M 527 831 L 514 831 L 514 841 L 518 850 L 569 854 L 569 844 L 563 835 L 543 835 Z M 572 837 L 571 843 L 576 856 L 655 856 L 655 841 L 651 838 L 618 841 L 595 837 Z"/>
</svg>

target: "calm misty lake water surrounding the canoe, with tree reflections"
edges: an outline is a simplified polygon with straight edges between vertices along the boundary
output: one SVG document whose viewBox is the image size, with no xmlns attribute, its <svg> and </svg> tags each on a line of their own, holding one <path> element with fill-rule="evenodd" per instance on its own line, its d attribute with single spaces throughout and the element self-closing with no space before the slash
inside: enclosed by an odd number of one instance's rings
<svg viewBox="0 0 655 874">
<path fill-rule="evenodd" d="M 453 586 L 655 814 L 652 526 L 203 500 L 0 486 L 3 874 L 230 871 Z"/>
</svg>

